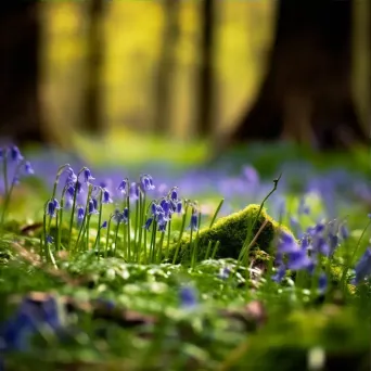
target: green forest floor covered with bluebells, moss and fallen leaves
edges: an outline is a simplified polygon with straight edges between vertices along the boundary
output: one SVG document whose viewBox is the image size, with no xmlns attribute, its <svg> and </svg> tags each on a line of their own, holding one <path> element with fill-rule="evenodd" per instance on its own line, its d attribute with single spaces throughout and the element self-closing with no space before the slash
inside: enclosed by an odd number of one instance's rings
<svg viewBox="0 0 371 371">
<path fill-rule="evenodd" d="M 370 369 L 369 154 L 153 151 L 2 149 L 0 368 Z"/>
</svg>

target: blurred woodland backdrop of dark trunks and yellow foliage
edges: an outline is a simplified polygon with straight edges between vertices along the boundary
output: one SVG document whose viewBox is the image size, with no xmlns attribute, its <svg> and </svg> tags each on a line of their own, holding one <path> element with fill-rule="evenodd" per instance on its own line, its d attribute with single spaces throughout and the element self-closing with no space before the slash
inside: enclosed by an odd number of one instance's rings
<svg viewBox="0 0 371 371">
<path fill-rule="evenodd" d="M 21 1 L 2 21 L 1 135 L 21 144 L 197 162 L 233 137 L 280 139 L 282 120 L 310 144 L 316 99 L 333 111 L 315 110 L 317 126 L 337 132 L 344 118 L 368 137 L 368 0 Z M 337 112 L 350 100 L 351 118 Z"/>
</svg>

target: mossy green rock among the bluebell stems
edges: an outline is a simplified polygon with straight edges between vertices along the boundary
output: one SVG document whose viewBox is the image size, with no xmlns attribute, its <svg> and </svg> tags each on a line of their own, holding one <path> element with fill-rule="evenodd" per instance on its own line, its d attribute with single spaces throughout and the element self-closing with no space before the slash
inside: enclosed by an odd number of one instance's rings
<svg viewBox="0 0 371 371">
<path fill-rule="evenodd" d="M 241 212 L 228 215 L 218 219 L 212 228 L 201 229 L 199 232 L 199 250 L 197 250 L 197 260 L 202 260 L 205 257 L 206 248 L 212 241 L 212 250 L 214 248 L 217 241 L 219 241 L 219 247 L 215 255 L 215 258 L 234 258 L 236 259 L 240 255 L 241 248 L 247 236 L 248 228 L 252 227 L 255 218 L 258 215 L 260 205 L 248 205 Z M 291 233 L 283 226 L 273 220 L 267 212 L 263 208 L 258 219 L 254 226 L 252 236 L 256 235 L 261 225 L 267 220 L 267 225 L 258 235 L 256 243 L 254 244 L 254 250 L 260 250 L 263 252 L 268 252 L 269 246 L 278 232 L 278 230 L 284 230 Z M 193 241 L 196 238 L 196 233 L 193 232 Z M 170 259 L 174 257 L 177 243 L 172 246 L 170 251 Z M 188 233 L 182 238 L 179 255 L 177 263 L 190 260 L 191 257 L 191 246 L 190 246 L 190 234 Z"/>
</svg>

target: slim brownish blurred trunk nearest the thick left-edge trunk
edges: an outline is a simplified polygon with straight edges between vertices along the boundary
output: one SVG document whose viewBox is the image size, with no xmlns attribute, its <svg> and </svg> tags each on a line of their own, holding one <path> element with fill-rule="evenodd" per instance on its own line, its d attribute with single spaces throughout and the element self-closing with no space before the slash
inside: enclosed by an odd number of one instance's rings
<svg viewBox="0 0 371 371">
<path fill-rule="evenodd" d="M 102 65 L 103 65 L 103 14 L 104 0 L 87 3 L 87 64 L 82 103 L 81 127 L 84 131 L 98 135 L 103 131 L 102 121 Z"/>
</svg>

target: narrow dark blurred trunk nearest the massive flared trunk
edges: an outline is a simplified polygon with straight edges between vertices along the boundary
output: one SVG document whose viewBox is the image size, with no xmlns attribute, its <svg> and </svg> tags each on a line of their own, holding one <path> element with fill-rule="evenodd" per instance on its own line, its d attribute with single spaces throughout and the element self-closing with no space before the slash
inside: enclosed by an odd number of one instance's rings
<svg viewBox="0 0 371 371">
<path fill-rule="evenodd" d="M 203 0 L 202 11 L 202 41 L 200 57 L 200 76 L 197 91 L 196 131 L 200 137 L 214 133 L 214 46 L 215 46 L 215 0 Z"/>
</svg>

